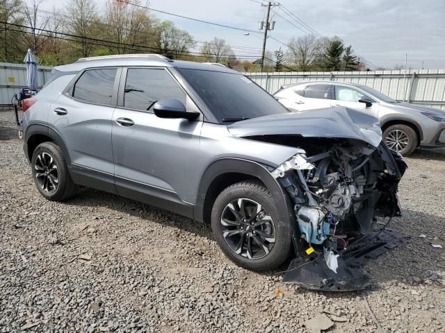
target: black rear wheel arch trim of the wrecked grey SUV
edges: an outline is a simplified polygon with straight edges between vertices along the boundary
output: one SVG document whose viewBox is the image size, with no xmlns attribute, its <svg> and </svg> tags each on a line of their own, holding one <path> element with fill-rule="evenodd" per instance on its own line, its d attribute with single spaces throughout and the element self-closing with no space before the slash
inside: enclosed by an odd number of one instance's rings
<svg viewBox="0 0 445 333">
<path fill-rule="evenodd" d="M 62 137 L 53 128 L 41 124 L 33 124 L 26 128 L 24 135 L 24 151 L 29 161 L 33 157 L 33 152 L 39 144 L 43 142 L 54 142 L 62 150 L 63 157 L 67 164 L 71 164 L 70 154 L 63 142 Z"/>
</svg>

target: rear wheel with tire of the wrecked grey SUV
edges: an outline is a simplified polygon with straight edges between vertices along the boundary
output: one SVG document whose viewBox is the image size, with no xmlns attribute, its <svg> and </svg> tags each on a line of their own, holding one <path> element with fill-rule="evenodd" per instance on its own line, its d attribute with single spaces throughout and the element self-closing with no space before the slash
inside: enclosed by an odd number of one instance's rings
<svg viewBox="0 0 445 333">
<path fill-rule="evenodd" d="M 39 144 L 31 158 L 31 173 L 40 194 L 51 201 L 63 201 L 76 194 L 63 153 L 54 142 Z"/>
</svg>

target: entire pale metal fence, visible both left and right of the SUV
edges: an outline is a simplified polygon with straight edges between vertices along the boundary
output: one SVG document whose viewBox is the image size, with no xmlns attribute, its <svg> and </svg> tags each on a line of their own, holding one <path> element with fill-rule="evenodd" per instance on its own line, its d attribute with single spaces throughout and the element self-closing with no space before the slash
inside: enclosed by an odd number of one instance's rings
<svg viewBox="0 0 445 333">
<path fill-rule="evenodd" d="M 42 87 L 51 76 L 51 67 L 38 69 Z M 403 71 L 334 71 L 245 73 L 268 92 L 282 85 L 309 80 L 337 80 L 358 83 L 377 89 L 398 101 L 410 101 L 445 110 L 445 69 L 409 69 Z M 26 87 L 26 66 L 0 62 L 0 105 L 10 104 L 11 97 Z"/>
</svg>

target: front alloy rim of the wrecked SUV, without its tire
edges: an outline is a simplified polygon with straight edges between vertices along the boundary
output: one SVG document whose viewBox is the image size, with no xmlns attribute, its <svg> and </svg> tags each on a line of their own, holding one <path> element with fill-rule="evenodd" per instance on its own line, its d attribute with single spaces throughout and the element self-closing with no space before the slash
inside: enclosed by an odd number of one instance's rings
<svg viewBox="0 0 445 333">
<path fill-rule="evenodd" d="M 221 216 L 223 237 L 234 253 L 260 259 L 275 245 L 272 217 L 259 203 L 238 198 L 228 203 Z"/>
</svg>

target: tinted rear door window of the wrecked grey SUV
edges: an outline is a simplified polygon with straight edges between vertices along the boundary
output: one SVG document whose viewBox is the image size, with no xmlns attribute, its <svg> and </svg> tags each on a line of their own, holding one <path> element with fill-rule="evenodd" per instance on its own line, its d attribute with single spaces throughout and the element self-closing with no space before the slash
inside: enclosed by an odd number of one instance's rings
<svg viewBox="0 0 445 333">
<path fill-rule="evenodd" d="M 117 69 L 89 69 L 74 85 L 72 96 L 94 104 L 111 105 Z"/>
</svg>

